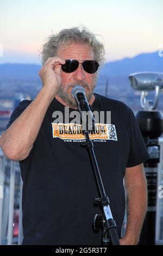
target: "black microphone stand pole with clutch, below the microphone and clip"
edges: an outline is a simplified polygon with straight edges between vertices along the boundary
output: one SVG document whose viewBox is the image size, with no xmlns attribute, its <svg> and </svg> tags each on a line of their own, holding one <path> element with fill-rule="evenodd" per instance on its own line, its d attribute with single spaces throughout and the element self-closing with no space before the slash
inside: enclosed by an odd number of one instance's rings
<svg viewBox="0 0 163 256">
<path fill-rule="evenodd" d="M 101 194 L 101 198 L 96 198 L 95 203 L 101 205 L 103 209 L 102 215 L 95 215 L 93 224 L 96 230 L 102 228 L 102 242 L 103 245 L 109 245 L 109 241 L 111 240 L 112 245 L 120 245 L 120 241 L 118 239 L 116 223 L 112 218 L 110 206 L 109 206 L 109 198 L 105 194 L 103 182 L 101 179 L 101 175 L 99 173 L 98 164 L 96 161 L 95 152 L 93 150 L 93 142 L 90 140 L 89 131 L 83 131 L 86 142 L 82 145 L 87 147 L 89 151 L 93 170 L 96 176 L 96 181 L 98 185 L 99 192 Z"/>
</svg>

